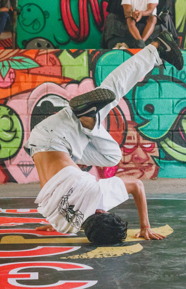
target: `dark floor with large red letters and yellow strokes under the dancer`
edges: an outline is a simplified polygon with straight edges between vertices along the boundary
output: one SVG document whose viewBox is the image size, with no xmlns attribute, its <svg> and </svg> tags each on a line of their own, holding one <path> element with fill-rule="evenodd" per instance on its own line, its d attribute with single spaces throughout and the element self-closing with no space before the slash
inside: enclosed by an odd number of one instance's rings
<svg viewBox="0 0 186 289">
<path fill-rule="evenodd" d="M 133 199 L 113 209 L 129 221 L 127 238 L 96 247 L 77 234 L 36 231 L 47 221 L 34 198 L 0 198 L 2 289 L 185 289 L 185 199 L 147 199 L 153 230 L 164 240 L 135 239 Z"/>
</svg>

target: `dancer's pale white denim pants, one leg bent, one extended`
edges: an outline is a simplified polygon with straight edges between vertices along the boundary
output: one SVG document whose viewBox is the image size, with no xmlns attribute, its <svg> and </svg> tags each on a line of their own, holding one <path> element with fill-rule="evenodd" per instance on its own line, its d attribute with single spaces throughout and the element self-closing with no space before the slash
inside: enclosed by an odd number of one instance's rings
<svg viewBox="0 0 186 289">
<path fill-rule="evenodd" d="M 100 121 L 154 65 L 160 64 L 157 49 L 149 44 L 112 71 L 99 88 L 112 90 L 116 99 L 100 110 Z M 118 143 L 103 125 L 98 129 L 96 120 L 92 131 L 84 128 L 70 106 L 36 125 L 24 148 L 31 156 L 38 151 L 65 151 L 77 164 L 87 166 L 115 166 L 122 156 Z"/>
</svg>

